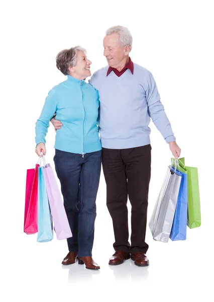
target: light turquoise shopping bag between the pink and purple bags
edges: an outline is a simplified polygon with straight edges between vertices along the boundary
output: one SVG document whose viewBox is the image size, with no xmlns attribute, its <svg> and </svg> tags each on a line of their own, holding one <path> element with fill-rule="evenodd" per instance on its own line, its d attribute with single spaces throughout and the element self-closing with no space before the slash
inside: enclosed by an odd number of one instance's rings
<svg viewBox="0 0 214 302">
<path fill-rule="evenodd" d="M 45 186 L 45 179 L 39 167 L 38 173 L 38 242 L 48 242 L 53 239 L 53 224 Z"/>
</svg>

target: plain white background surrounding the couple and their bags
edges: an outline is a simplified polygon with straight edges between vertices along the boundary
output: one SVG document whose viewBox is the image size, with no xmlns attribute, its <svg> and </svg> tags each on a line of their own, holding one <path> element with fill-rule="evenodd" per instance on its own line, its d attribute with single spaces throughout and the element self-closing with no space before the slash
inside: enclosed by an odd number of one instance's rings
<svg viewBox="0 0 214 302">
<path fill-rule="evenodd" d="M 192 301 L 213 297 L 213 10 L 212 1 L 8 1 L 1 7 L 1 268 L 2 301 Z M 156 80 L 181 157 L 198 168 L 201 226 L 183 242 L 155 242 L 148 268 L 131 260 L 110 267 L 114 233 L 101 174 L 93 258 L 100 271 L 62 267 L 66 241 L 37 243 L 23 233 L 26 170 L 37 161 L 35 122 L 48 91 L 65 80 L 56 54 L 80 44 L 92 73 L 106 65 L 102 39 L 114 25 L 133 35 L 131 58 Z M 152 177 L 148 220 L 170 150 L 150 124 Z M 53 166 L 53 127 L 46 160 Z M 130 210 L 130 205 L 129 205 Z M 130 217 L 129 217 L 130 218 Z M 207 298 L 209 296 L 209 298 Z"/>
</svg>

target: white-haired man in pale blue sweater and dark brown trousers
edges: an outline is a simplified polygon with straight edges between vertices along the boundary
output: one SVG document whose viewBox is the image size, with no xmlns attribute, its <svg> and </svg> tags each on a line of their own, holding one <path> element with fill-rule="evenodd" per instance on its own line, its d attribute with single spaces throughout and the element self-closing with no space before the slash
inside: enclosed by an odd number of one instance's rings
<svg viewBox="0 0 214 302">
<path fill-rule="evenodd" d="M 151 171 L 150 118 L 161 132 L 175 158 L 180 148 L 160 101 L 150 71 L 129 57 L 132 36 L 123 26 L 106 31 L 103 40 L 108 66 L 97 70 L 89 83 L 100 100 L 99 133 L 107 206 L 115 233 L 115 254 L 110 265 L 131 259 L 138 266 L 149 265 L 145 242 L 148 191 Z M 51 120 L 56 129 L 59 121 Z M 129 243 L 127 200 L 132 206 Z"/>
</svg>

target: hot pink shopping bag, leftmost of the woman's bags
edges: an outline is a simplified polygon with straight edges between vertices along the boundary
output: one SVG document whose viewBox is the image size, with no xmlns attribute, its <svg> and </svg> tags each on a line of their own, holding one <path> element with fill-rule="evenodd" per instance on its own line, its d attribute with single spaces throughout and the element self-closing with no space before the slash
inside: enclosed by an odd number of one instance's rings
<svg viewBox="0 0 214 302">
<path fill-rule="evenodd" d="M 38 232 L 38 167 L 37 164 L 35 169 L 27 170 L 24 217 L 24 232 L 26 234 Z"/>
</svg>

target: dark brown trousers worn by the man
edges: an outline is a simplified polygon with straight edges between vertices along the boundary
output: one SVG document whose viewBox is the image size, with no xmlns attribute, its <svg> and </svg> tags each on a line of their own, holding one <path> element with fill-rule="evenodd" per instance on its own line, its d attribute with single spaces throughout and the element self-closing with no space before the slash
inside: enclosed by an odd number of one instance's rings
<svg viewBox="0 0 214 302">
<path fill-rule="evenodd" d="M 107 207 L 112 216 L 115 250 L 146 253 L 148 192 L 151 175 L 151 145 L 128 149 L 102 148 Z M 129 243 L 127 200 L 132 206 Z"/>
</svg>

